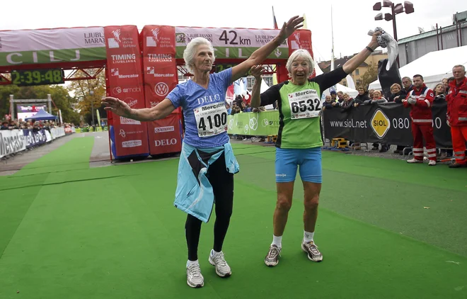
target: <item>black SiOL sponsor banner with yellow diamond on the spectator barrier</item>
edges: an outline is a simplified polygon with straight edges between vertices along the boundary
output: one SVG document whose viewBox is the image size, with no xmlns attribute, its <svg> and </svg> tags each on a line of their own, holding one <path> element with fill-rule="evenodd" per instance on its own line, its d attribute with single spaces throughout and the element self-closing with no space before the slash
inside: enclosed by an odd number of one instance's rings
<svg viewBox="0 0 467 299">
<path fill-rule="evenodd" d="M 438 148 L 452 148 L 451 129 L 446 124 L 447 103 L 432 106 L 434 140 Z M 364 105 L 342 112 L 340 108 L 323 113 L 327 139 L 342 137 L 355 142 L 380 142 L 388 145 L 413 145 L 410 109 L 401 103 Z"/>
</svg>

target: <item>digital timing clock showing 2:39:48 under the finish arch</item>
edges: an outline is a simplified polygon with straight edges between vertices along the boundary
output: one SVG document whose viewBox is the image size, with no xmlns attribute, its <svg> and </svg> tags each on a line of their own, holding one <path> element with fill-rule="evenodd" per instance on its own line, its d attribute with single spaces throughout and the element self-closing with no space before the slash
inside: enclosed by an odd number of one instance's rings
<svg viewBox="0 0 467 299">
<path fill-rule="evenodd" d="M 11 84 L 18 86 L 64 84 L 64 72 L 62 69 L 12 71 Z"/>
</svg>

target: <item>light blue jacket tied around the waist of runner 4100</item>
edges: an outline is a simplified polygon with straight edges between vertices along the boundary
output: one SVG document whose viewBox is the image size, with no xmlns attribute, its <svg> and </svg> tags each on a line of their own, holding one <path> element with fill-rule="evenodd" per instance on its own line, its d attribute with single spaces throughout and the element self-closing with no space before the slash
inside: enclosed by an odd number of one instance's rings
<svg viewBox="0 0 467 299">
<path fill-rule="evenodd" d="M 200 153 L 201 152 L 201 153 Z M 226 169 L 236 174 L 240 167 L 233 155 L 230 142 L 222 147 L 192 147 L 183 142 L 180 161 L 178 162 L 177 190 L 175 191 L 175 208 L 208 222 L 214 205 L 214 192 L 207 169 L 224 153 Z M 197 176 L 195 176 L 197 173 Z"/>
</svg>

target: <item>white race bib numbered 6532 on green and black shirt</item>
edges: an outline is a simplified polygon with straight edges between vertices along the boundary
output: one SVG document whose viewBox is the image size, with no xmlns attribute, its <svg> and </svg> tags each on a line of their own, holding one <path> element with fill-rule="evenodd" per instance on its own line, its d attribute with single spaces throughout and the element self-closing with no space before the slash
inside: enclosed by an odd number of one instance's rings
<svg viewBox="0 0 467 299">
<path fill-rule="evenodd" d="M 314 89 L 305 89 L 289 94 L 290 118 L 317 118 L 321 111 L 321 99 Z"/>
</svg>

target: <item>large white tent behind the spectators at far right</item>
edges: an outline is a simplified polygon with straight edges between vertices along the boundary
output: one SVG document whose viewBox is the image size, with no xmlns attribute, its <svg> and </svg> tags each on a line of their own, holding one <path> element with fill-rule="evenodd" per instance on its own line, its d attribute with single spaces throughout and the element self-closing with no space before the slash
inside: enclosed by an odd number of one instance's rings
<svg viewBox="0 0 467 299">
<path fill-rule="evenodd" d="M 443 78 L 452 76 L 452 67 L 463 64 L 467 67 L 467 45 L 446 50 L 429 52 L 417 60 L 404 65 L 399 69 L 400 77 L 412 78 L 415 74 L 421 74 L 425 84 L 434 89 Z M 381 90 L 379 80 L 372 82 L 369 89 Z"/>
</svg>

